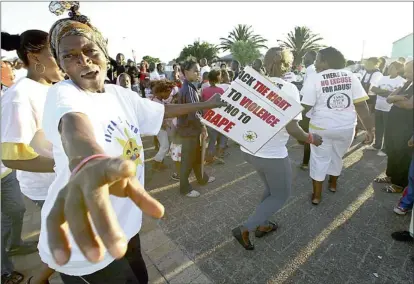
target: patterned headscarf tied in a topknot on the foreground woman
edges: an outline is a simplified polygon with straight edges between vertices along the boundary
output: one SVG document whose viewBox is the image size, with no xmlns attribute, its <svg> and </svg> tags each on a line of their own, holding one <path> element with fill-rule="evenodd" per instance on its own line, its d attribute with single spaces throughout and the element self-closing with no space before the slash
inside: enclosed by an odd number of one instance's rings
<svg viewBox="0 0 414 284">
<path fill-rule="evenodd" d="M 50 48 L 56 62 L 59 63 L 59 43 L 66 36 L 83 36 L 89 39 L 102 50 L 109 60 L 107 41 L 98 29 L 90 24 L 88 17 L 81 15 L 78 9 L 79 1 L 52 1 L 49 5 L 50 12 L 57 16 L 70 11 L 69 18 L 58 20 L 49 32 Z"/>
</svg>

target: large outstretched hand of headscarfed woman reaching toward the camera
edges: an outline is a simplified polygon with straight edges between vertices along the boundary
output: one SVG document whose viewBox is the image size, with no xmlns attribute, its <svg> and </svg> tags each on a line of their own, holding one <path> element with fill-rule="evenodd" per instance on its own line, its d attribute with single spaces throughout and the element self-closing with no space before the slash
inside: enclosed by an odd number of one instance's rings
<svg viewBox="0 0 414 284">
<path fill-rule="evenodd" d="M 88 162 L 70 179 L 47 218 L 49 247 L 57 264 L 64 265 L 70 259 L 69 229 L 90 262 L 99 262 L 104 248 L 114 258 L 124 256 L 128 241 L 118 223 L 110 195 L 130 198 L 152 217 L 164 215 L 163 205 L 145 191 L 135 172 L 136 165 L 132 161 L 100 158 Z"/>
</svg>

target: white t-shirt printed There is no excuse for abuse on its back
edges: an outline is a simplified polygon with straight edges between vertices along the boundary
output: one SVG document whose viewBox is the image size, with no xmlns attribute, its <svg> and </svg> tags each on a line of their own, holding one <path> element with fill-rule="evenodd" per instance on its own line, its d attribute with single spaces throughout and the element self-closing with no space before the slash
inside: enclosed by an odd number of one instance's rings
<svg viewBox="0 0 414 284">
<path fill-rule="evenodd" d="M 302 104 L 312 106 L 310 128 L 350 129 L 355 127 L 355 103 L 368 100 L 361 82 L 352 72 L 328 69 L 308 77 L 303 88 Z"/>
</svg>

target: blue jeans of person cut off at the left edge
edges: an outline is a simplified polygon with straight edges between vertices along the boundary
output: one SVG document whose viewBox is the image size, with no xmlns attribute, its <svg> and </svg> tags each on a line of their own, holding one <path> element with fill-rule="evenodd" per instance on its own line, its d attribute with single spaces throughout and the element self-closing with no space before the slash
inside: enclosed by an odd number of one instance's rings
<svg viewBox="0 0 414 284">
<path fill-rule="evenodd" d="M 21 234 L 23 217 L 26 207 L 20 185 L 13 171 L 1 179 L 1 272 L 10 274 L 14 267 L 7 255 L 6 248 L 19 246 L 22 243 Z"/>
</svg>

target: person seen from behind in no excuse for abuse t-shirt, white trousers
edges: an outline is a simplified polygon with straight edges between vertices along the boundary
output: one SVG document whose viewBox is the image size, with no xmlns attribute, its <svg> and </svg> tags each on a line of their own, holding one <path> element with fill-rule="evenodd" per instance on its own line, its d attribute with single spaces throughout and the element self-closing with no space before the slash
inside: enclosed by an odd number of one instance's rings
<svg viewBox="0 0 414 284">
<path fill-rule="evenodd" d="M 367 129 L 365 143 L 371 143 L 374 135 L 367 93 L 355 75 L 344 69 L 342 53 L 333 47 L 322 49 L 316 56 L 315 67 L 318 73 L 308 77 L 301 92 L 302 105 L 310 111 L 309 130 L 323 138 L 320 147 L 311 145 L 312 203 L 317 205 L 326 175 L 329 190 L 336 191 L 342 157 L 353 141 L 357 113 Z"/>
</svg>

